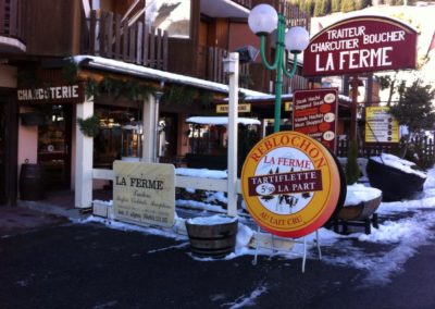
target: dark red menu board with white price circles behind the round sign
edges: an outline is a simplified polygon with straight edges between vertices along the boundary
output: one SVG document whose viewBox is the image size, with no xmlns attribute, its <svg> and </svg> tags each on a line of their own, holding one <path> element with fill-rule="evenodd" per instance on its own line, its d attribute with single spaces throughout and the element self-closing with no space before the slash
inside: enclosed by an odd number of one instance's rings
<svg viewBox="0 0 435 309">
<path fill-rule="evenodd" d="M 293 129 L 307 134 L 335 152 L 338 90 L 297 90 L 294 102 Z"/>
</svg>

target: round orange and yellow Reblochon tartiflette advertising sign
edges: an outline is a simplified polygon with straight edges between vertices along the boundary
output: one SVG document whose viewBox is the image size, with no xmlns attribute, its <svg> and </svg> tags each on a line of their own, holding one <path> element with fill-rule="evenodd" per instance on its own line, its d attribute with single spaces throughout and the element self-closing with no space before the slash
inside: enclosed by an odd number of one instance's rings
<svg viewBox="0 0 435 309">
<path fill-rule="evenodd" d="M 260 140 L 241 171 L 248 211 L 265 231 L 301 237 L 321 227 L 340 196 L 334 157 L 315 139 L 294 131 Z"/>
</svg>

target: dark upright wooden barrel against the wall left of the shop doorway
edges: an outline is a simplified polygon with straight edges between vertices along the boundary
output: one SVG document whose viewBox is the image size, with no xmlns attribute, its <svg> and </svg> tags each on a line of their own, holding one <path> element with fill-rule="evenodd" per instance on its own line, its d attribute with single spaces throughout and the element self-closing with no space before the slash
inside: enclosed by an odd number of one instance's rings
<svg viewBox="0 0 435 309">
<path fill-rule="evenodd" d="M 44 168 L 40 164 L 24 163 L 20 172 L 20 199 L 40 200 L 45 198 Z"/>
</svg>

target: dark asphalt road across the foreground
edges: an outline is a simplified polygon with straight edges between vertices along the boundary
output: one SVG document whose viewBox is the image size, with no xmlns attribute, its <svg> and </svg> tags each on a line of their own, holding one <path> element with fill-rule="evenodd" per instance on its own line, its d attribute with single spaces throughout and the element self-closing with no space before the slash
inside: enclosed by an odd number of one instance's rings
<svg viewBox="0 0 435 309">
<path fill-rule="evenodd" d="M 186 239 L 57 222 L 0 238 L 0 308 L 435 308 L 434 258 L 420 247 L 368 286 L 364 271 L 315 258 L 303 274 L 300 259 L 203 261 Z"/>
</svg>

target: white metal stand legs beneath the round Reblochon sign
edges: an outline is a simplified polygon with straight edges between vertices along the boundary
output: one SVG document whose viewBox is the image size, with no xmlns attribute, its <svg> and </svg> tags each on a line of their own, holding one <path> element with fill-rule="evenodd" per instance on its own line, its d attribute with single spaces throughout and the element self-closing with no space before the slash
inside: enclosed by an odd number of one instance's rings
<svg viewBox="0 0 435 309">
<path fill-rule="evenodd" d="M 272 238 L 272 248 L 270 246 L 263 246 L 260 243 L 261 235 L 270 235 Z M 274 234 L 268 233 L 263 231 L 260 226 L 257 228 L 257 242 L 256 242 L 256 254 L 253 256 L 252 264 L 257 265 L 257 259 L 258 259 L 258 251 L 260 248 L 263 249 L 272 249 L 274 252 L 283 252 L 283 254 L 290 254 L 290 255 L 296 255 L 293 252 L 293 247 L 285 249 L 285 248 L 278 248 L 278 244 L 276 244 L 278 240 L 283 242 L 291 242 L 296 244 L 303 244 L 303 255 L 302 255 L 302 273 L 306 272 L 306 263 L 307 263 L 307 245 L 312 245 L 318 247 L 318 255 L 319 255 L 319 260 L 322 259 L 322 250 L 320 248 L 320 240 L 319 240 L 319 230 L 315 230 L 315 238 L 313 242 L 308 242 L 307 236 L 303 236 L 302 239 L 300 238 L 291 238 L 291 237 L 279 237 Z"/>
</svg>

